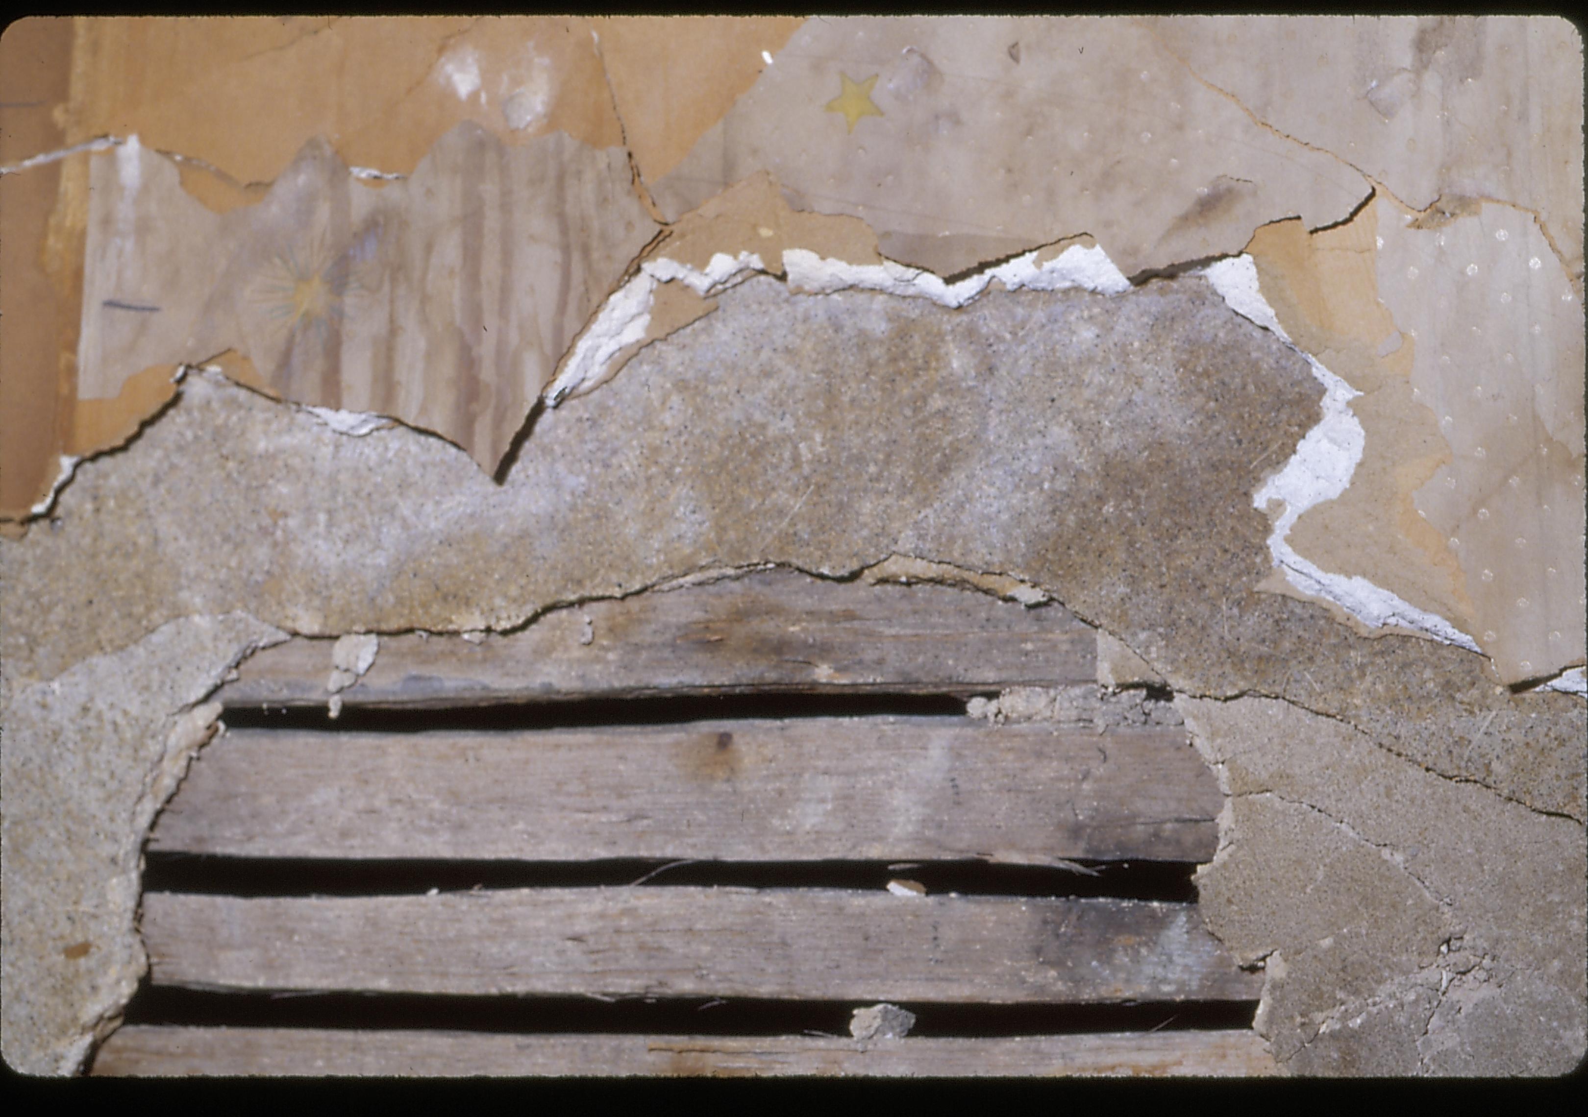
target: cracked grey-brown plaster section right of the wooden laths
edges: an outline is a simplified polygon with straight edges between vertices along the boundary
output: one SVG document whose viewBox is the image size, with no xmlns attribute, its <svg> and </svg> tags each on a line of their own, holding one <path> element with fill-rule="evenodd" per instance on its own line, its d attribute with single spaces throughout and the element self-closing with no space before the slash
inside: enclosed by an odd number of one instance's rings
<svg viewBox="0 0 1588 1117">
<path fill-rule="evenodd" d="M 1561 946 L 1588 933 L 1578 819 L 1293 703 L 1175 701 L 1232 796 L 1201 903 L 1243 962 L 1267 958 L 1275 1058 L 1367 1076 L 1577 1066 L 1588 992 Z"/>
</svg>

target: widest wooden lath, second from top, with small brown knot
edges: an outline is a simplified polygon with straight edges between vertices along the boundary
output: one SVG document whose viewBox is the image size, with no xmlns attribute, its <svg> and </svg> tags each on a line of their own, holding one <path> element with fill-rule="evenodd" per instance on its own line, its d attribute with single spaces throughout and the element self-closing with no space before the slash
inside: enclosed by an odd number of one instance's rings
<svg viewBox="0 0 1588 1117">
<path fill-rule="evenodd" d="M 1185 730 L 972 719 L 519 733 L 230 730 L 149 849 L 233 857 L 1205 862 Z"/>
</svg>

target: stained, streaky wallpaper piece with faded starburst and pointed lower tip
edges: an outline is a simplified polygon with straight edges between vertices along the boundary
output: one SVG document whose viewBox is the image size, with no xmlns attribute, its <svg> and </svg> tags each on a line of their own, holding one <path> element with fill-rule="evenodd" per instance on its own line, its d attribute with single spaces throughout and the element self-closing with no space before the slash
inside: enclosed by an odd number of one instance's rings
<svg viewBox="0 0 1588 1117">
<path fill-rule="evenodd" d="M 621 149 L 562 133 L 507 148 L 472 124 L 380 189 L 311 141 L 227 214 L 137 136 L 92 182 L 81 398 L 240 349 L 276 395 L 432 430 L 488 473 L 656 232 Z"/>
</svg>

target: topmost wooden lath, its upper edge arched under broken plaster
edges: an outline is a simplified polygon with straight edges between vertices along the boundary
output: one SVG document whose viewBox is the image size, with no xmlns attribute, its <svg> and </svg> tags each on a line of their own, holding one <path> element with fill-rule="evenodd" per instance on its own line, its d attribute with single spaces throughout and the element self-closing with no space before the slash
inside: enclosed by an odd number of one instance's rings
<svg viewBox="0 0 1588 1117">
<path fill-rule="evenodd" d="M 221 701 L 322 704 L 330 644 L 292 639 L 260 652 Z M 1058 605 L 770 570 L 557 609 L 480 643 L 383 636 L 375 666 L 341 698 L 434 708 L 745 690 L 970 695 L 1094 682 L 1096 655 L 1093 628 Z"/>
</svg>

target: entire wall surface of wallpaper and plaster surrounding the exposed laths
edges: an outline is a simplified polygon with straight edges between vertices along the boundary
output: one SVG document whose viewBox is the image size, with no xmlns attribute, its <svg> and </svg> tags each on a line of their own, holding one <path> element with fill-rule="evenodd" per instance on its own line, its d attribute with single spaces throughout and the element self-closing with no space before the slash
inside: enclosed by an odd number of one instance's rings
<svg viewBox="0 0 1588 1117">
<path fill-rule="evenodd" d="M 1170 687 L 1282 1066 L 1580 1058 L 1575 30 L 664 22 L 6 56 L 6 1058 L 125 1000 L 138 841 L 251 647 L 364 633 L 356 674 L 769 562 L 1058 600 Z M 57 801 L 130 831 L 79 857 Z M 71 938 L 56 895 L 114 901 Z"/>
</svg>

